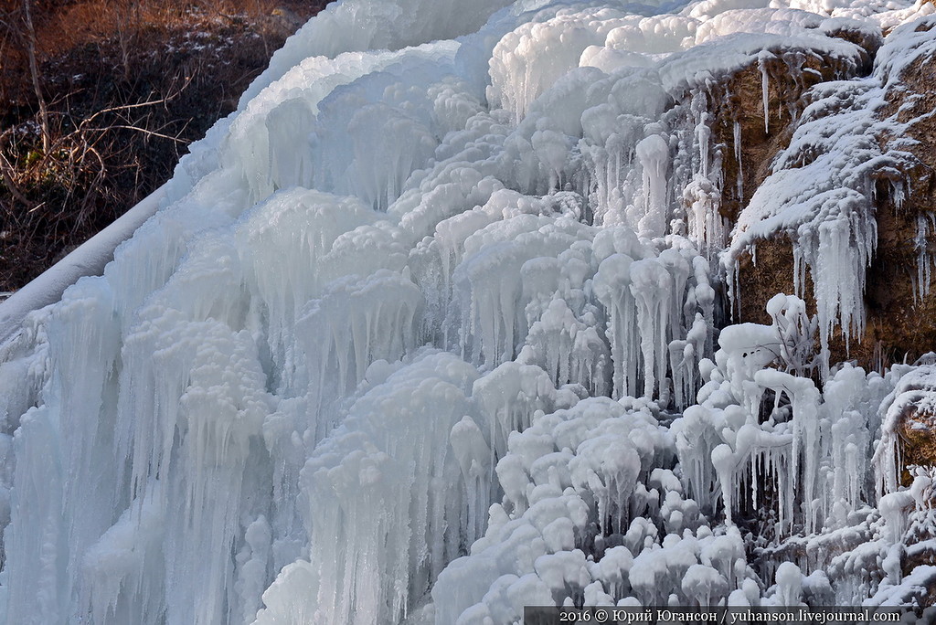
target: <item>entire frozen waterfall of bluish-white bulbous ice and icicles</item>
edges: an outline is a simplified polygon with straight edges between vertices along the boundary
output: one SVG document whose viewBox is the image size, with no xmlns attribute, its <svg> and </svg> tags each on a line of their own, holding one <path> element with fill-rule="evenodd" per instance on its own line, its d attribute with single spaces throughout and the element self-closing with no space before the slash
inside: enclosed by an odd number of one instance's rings
<svg viewBox="0 0 936 625">
<path fill-rule="evenodd" d="M 875 189 L 913 193 L 882 111 L 932 12 L 329 5 L 0 346 L 3 622 L 919 603 L 936 474 L 897 429 L 936 364 L 829 339 L 865 323 Z M 748 70 L 791 133 L 744 198 L 714 98 Z M 779 235 L 796 292 L 732 325 Z"/>
</svg>

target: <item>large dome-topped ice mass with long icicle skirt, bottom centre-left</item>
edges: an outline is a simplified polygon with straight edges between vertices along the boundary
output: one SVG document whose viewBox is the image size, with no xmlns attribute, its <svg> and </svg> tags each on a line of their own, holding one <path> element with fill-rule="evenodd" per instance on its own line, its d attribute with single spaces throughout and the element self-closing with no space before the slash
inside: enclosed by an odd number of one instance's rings
<svg viewBox="0 0 936 625">
<path fill-rule="evenodd" d="M 306 462 L 317 618 L 395 621 L 457 554 L 469 489 L 449 432 L 472 412 L 475 377 L 455 356 L 418 357 L 360 397 Z"/>
</svg>

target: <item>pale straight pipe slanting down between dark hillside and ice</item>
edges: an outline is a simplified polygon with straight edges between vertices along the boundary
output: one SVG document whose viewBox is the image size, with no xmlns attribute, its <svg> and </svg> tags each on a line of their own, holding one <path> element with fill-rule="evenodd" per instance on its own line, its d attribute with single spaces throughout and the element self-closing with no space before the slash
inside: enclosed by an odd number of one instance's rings
<svg viewBox="0 0 936 625">
<path fill-rule="evenodd" d="M 117 246 L 129 239 L 153 215 L 165 195 L 164 184 L 35 280 L 0 302 L 0 345 L 16 335 L 29 312 L 58 301 L 66 288 L 78 282 L 80 277 L 100 275 L 104 266 L 113 259 Z"/>
</svg>

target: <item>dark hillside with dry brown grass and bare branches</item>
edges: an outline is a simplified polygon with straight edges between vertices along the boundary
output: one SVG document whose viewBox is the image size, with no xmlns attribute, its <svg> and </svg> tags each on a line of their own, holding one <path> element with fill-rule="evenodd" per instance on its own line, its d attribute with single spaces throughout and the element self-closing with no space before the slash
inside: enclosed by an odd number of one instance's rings
<svg viewBox="0 0 936 625">
<path fill-rule="evenodd" d="M 0 1 L 0 291 L 165 182 L 324 4 L 33 0 L 44 147 L 22 0 Z"/>
</svg>

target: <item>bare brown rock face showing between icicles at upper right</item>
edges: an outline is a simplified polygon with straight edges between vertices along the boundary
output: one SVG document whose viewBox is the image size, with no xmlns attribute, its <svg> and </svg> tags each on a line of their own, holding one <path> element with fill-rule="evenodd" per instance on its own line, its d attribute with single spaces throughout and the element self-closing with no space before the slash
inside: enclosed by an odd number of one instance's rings
<svg viewBox="0 0 936 625">
<path fill-rule="evenodd" d="M 841 36 L 868 52 L 868 63 L 861 70 L 870 72 L 880 41 L 852 30 Z M 736 219 L 753 192 L 771 173 L 778 153 L 793 135 L 795 115 L 808 106 L 806 90 L 829 80 L 831 69 L 815 56 L 774 58 L 767 65 L 769 74 L 769 132 L 765 132 L 761 99 L 762 76 L 750 66 L 720 87 L 726 103 L 715 126 L 718 139 L 727 145 L 734 141 L 732 125 L 739 124 L 740 162 L 726 158 L 723 212 Z M 805 58 L 803 58 L 805 57 Z M 877 225 L 876 252 L 866 274 L 864 306 L 866 326 L 847 342 L 836 329 L 830 340 L 832 362 L 854 359 L 871 370 L 883 371 L 891 363 L 914 361 L 936 345 L 936 294 L 929 269 L 934 246 L 932 238 L 933 178 L 936 152 L 932 140 L 936 123 L 926 113 L 936 106 L 931 85 L 936 69 L 928 63 L 929 55 L 918 56 L 913 63 L 890 77 L 885 88 L 885 102 L 875 111 L 881 120 L 892 119 L 905 128 L 906 151 L 913 155 L 912 167 L 886 170 L 875 182 L 873 215 Z M 818 72 L 818 73 L 817 73 Z M 821 74 L 821 78 L 820 78 Z M 862 80 L 862 76 L 853 77 Z M 867 79 L 865 79 L 867 80 Z M 805 94 L 805 95 L 804 95 Z M 792 113 L 792 115 L 791 115 Z M 882 146 L 896 137 L 881 137 Z M 730 151 L 729 151 L 730 152 Z M 740 167 L 739 167 L 740 166 Z M 736 185 L 739 168 L 744 173 Z M 894 193 L 891 182 L 905 182 L 906 193 Z M 794 254 L 789 233 L 779 231 L 759 240 L 754 254 L 739 259 L 738 301 L 740 321 L 768 322 L 765 304 L 775 293 L 794 292 Z M 801 295 L 815 312 L 812 276 L 806 273 Z"/>
</svg>

